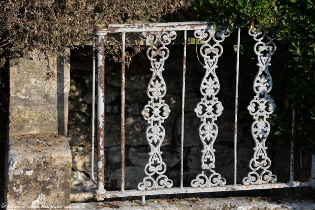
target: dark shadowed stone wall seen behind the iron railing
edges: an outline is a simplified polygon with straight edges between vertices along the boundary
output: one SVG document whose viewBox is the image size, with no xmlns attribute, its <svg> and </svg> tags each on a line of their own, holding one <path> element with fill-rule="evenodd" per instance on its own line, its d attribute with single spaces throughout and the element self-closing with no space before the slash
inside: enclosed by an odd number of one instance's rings
<svg viewBox="0 0 315 210">
<path fill-rule="evenodd" d="M 227 184 L 232 184 L 236 54 L 232 47 L 228 46 L 233 45 L 232 43 L 223 44 L 225 48 L 217 69 L 221 83 L 218 97 L 224 110 L 217 120 L 219 135 L 214 149 L 216 150 L 216 171 L 227 180 Z M 163 161 L 167 165 L 166 175 L 174 181 L 174 186 L 179 186 L 183 46 L 172 45 L 169 49 L 170 57 L 165 61 L 163 77 L 167 86 L 165 102 L 169 105 L 171 113 L 164 122 L 166 135 L 161 151 Z M 201 98 L 199 86 L 204 69 L 195 52 L 195 46 L 189 45 L 184 132 L 184 185 L 186 186 L 190 185 L 190 180 L 201 172 L 200 150 L 202 144 L 198 135 L 200 120 L 193 110 Z M 144 178 L 144 167 L 149 158 L 150 148 L 145 137 L 147 121 L 141 115 L 141 111 L 148 101 L 146 91 L 151 77 L 150 62 L 146 59 L 145 53 L 143 51 L 142 54 L 135 56 L 126 69 L 126 189 L 137 188 L 137 184 Z M 252 58 L 252 55 L 243 55 L 241 63 L 245 63 L 247 59 L 252 60 Z M 252 118 L 248 114 L 247 106 L 253 96 L 252 79 L 257 70 L 255 62 L 252 60 L 250 63 L 252 71 L 241 70 L 240 72 L 238 183 L 241 183 L 250 172 L 248 165 L 254 147 L 250 132 Z M 107 190 L 117 190 L 121 184 L 120 68 L 120 63 L 105 60 L 105 185 Z M 71 52 L 70 77 L 68 140 L 73 156 L 72 192 L 92 192 L 90 189 L 95 185 L 89 181 L 92 109 L 91 48 L 79 48 Z M 95 105 L 95 107 L 97 106 Z M 285 139 L 273 142 L 272 134 L 270 139 L 268 150 L 270 158 L 273 160 L 271 170 L 278 175 L 278 181 L 288 181 L 289 144 Z M 277 161 L 279 159 L 282 161 Z"/>
</svg>

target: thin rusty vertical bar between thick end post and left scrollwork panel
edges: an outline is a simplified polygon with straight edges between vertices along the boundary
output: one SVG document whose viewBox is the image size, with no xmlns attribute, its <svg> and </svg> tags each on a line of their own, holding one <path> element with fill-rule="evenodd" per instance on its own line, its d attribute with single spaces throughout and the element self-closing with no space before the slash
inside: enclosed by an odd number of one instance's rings
<svg viewBox="0 0 315 210">
<path fill-rule="evenodd" d="M 121 115 L 122 192 L 125 191 L 125 39 L 126 32 L 122 32 L 122 115 Z"/>
</svg>

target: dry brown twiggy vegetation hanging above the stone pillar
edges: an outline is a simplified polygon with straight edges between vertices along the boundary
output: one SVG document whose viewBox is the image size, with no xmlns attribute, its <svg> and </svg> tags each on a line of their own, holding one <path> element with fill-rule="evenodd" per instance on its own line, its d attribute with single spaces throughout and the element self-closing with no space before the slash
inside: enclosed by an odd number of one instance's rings
<svg viewBox="0 0 315 210">
<path fill-rule="evenodd" d="M 44 51 L 92 41 L 95 24 L 163 22 L 192 0 L 1 0 L 0 66 L 25 50 Z"/>
</svg>

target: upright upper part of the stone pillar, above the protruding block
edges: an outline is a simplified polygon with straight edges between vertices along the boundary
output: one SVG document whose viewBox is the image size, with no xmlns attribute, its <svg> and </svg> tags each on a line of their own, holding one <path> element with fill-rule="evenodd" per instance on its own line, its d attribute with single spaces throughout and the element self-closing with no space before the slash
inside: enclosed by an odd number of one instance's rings
<svg viewBox="0 0 315 210">
<path fill-rule="evenodd" d="M 69 54 L 10 58 L 10 135 L 67 133 Z"/>
</svg>

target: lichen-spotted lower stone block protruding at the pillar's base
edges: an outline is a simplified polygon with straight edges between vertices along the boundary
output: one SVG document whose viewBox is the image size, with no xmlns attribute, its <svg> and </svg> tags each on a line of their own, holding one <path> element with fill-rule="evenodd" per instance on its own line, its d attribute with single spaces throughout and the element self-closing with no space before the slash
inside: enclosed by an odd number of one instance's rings
<svg viewBox="0 0 315 210">
<path fill-rule="evenodd" d="M 10 137 L 6 199 L 9 204 L 67 205 L 71 152 L 57 134 Z"/>
</svg>

